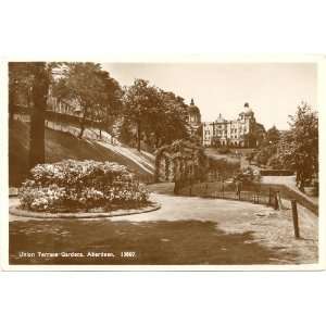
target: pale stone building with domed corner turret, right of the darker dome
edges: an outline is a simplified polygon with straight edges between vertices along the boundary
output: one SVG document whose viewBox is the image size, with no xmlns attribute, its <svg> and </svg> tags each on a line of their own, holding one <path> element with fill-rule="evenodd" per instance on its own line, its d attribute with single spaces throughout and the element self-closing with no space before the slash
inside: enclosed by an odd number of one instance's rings
<svg viewBox="0 0 326 326">
<path fill-rule="evenodd" d="M 243 110 L 236 120 L 225 120 L 220 114 L 215 122 L 203 123 L 203 146 L 256 147 L 254 131 L 258 126 L 262 125 L 256 123 L 249 103 L 244 103 Z"/>
</svg>

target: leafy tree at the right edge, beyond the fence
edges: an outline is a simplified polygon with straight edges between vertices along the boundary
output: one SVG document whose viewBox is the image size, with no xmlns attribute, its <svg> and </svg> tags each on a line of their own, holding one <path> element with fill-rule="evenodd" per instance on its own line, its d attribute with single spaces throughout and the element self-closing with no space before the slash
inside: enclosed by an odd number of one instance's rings
<svg viewBox="0 0 326 326">
<path fill-rule="evenodd" d="M 296 115 L 289 116 L 290 130 L 279 141 L 279 156 L 296 171 L 297 185 L 303 191 L 305 181 L 318 174 L 318 116 L 302 102 Z"/>
</svg>

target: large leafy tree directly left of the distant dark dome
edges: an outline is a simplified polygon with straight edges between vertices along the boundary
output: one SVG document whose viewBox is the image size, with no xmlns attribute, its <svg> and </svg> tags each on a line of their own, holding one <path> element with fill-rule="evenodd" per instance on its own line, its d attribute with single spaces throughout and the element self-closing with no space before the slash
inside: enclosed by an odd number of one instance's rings
<svg viewBox="0 0 326 326">
<path fill-rule="evenodd" d="M 125 123 L 124 136 L 129 138 L 133 125 L 136 128 L 137 149 L 141 139 L 152 149 L 168 145 L 176 139 L 186 138 L 187 105 L 184 99 L 149 85 L 149 82 L 136 79 L 126 88 L 124 96 Z"/>
</svg>

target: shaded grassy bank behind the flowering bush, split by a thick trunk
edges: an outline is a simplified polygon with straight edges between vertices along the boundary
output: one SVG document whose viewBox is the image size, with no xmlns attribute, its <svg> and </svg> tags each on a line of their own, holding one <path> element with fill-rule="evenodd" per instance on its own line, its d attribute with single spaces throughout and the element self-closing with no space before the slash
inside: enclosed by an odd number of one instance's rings
<svg viewBox="0 0 326 326">
<path fill-rule="evenodd" d="M 9 128 L 9 185 L 18 186 L 28 174 L 29 125 L 14 121 Z M 99 143 L 78 139 L 70 134 L 46 129 L 46 162 L 63 159 L 114 161 L 126 165 L 139 178 L 148 180 L 151 175 L 126 156 Z"/>
</svg>

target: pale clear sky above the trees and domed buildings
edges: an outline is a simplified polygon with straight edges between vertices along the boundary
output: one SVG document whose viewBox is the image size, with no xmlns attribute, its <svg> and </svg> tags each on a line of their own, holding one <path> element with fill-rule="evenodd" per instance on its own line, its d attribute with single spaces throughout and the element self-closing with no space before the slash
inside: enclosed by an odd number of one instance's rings
<svg viewBox="0 0 326 326">
<path fill-rule="evenodd" d="M 237 118 L 244 102 L 265 128 L 288 128 L 288 115 L 306 101 L 315 110 L 317 68 L 314 63 L 102 63 L 122 86 L 142 78 L 190 103 L 203 122 L 221 113 Z"/>
</svg>

